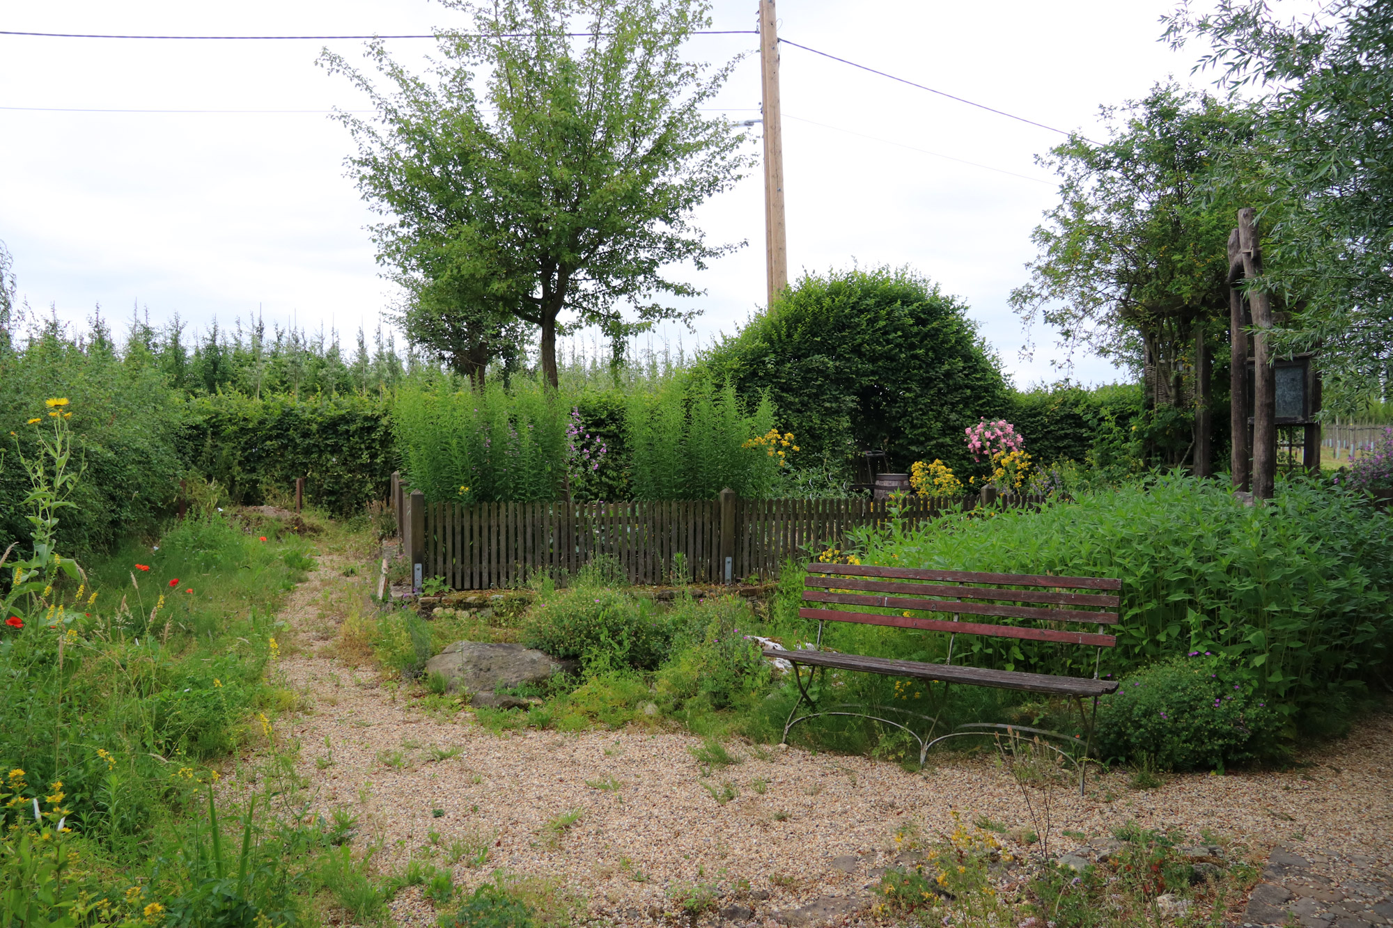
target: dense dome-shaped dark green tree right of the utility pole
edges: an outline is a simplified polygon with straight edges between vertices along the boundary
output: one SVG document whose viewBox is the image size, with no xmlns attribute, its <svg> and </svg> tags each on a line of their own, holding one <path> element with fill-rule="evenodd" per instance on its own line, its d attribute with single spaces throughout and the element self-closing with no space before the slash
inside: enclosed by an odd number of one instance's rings
<svg viewBox="0 0 1393 928">
<path fill-rule="evenodd" d="M 773 401 L 794 464 L 843 472 L 873 449 L 904 471 L 936 457 L 967 467 L 963 429 L 1007 407 L 967 307 L 908 269 L 804 274 L 701 368 Z"/>
</svg>

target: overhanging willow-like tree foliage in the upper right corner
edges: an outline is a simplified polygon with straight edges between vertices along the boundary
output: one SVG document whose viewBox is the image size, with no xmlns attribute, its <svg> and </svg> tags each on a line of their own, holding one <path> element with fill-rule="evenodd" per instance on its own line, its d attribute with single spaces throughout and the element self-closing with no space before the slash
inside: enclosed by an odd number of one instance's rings
<svg viewBox="0 0 1393 928">
<path fill-rule="evenodd" d="M 1212 43 L 1197 70 L 1261 88 L 1258 138 L 1229 164 L 1262 220 L 1265 274 L 1290 315 L 1277 350 L 1321 348 L 1336 396 L 1386 382 L 1393 364 L 1393 6 L 1332 0 L 1280 22 L 1262 0 L 1167 17 L 1178 47 Z"/>
</svg>

